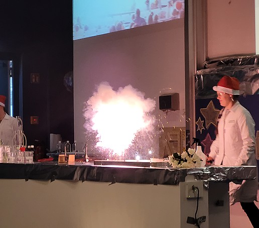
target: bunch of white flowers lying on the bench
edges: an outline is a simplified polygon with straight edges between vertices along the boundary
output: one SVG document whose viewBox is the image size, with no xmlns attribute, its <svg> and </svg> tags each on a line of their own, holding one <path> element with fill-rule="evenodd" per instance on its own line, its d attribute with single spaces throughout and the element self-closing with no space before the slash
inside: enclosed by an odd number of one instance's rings
<svg viewBox="0 0 259 228">
<path fill-rule="evenodd" d="M 170 155 L 168 161 L 173 168 L 195 168 L 201 167 L 202 164 L 201 158 L 191 148 L 187 152 L 183 151 L 182 154 L 174 153 Z"/>
</svg>

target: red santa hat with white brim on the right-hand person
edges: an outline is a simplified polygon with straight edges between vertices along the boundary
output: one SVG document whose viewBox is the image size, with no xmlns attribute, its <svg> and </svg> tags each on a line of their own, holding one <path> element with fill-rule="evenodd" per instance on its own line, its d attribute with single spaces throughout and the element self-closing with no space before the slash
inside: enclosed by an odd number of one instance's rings
<svg viewBox="0 0 259 228">
<path fill-rule="evenodd" d="M 239 81 L 235 77 L 223 76 L 218 81 L 217 85 L 213 86 L 213 90 L 233 95 L 239 95 Z"/>
</svg>

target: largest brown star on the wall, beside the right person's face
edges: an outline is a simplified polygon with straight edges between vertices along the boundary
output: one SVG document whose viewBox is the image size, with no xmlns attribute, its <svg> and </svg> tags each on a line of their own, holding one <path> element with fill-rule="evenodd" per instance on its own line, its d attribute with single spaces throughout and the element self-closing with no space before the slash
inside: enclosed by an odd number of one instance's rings
<svg viewBox="0 0 259 228">
<path fill-rule="evenodd" d="M 206 108 L 200 108 L 200 112 L 205 118 L 206 129 L 208 129 L 211 124 L 213 124 L 215 127 L 217 126 L 219 111 L 219 109 L 215 108 L 212 100 L 209 102 Z"/>
</svg>

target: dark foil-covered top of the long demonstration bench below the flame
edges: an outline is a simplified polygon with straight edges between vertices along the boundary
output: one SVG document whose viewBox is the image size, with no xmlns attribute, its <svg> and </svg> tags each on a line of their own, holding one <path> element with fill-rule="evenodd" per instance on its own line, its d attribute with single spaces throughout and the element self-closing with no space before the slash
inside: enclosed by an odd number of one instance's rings
<svg viewBox="0 0 259 228">
<path fill-rule="evenodd" d="M 92 162 L 73 165 L 52 162 L 32 164 L 0 163 L 0 179 L 73 180 L 111 183 L 178 185 L 187 175 L 196 180 L 232 181 L 254 179 L 256 166 L 209 166 L 202 168 L 140 167 L 94 165 Z"/>
</svg>

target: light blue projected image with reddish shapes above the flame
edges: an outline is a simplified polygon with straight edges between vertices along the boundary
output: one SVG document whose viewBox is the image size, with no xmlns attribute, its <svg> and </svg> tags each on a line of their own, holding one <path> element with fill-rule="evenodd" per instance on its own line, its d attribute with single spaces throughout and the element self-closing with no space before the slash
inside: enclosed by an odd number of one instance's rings
<svg viewBox="0 0 259 228">
<path fill-rule="evenodd" d="M 73 0 L 73 40 L 184 18 L 184 0 Z"/>
</svg>

